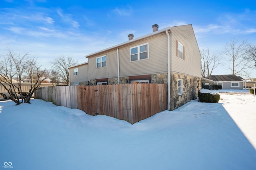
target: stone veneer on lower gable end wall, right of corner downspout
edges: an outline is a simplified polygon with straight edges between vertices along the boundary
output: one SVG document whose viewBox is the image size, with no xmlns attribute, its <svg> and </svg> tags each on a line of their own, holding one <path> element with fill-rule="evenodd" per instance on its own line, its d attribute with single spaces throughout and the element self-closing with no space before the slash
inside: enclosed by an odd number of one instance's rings
<svg viewBox="0 0 256 170">
<path fill-rule="evenodd" d="M 182 79 L 182 95 L 178 95 L 178 79 Z M 170 110 L 194 100 L 201 89 L 201 77 L 171 73 L 170 75 Z"/>
</svg>

